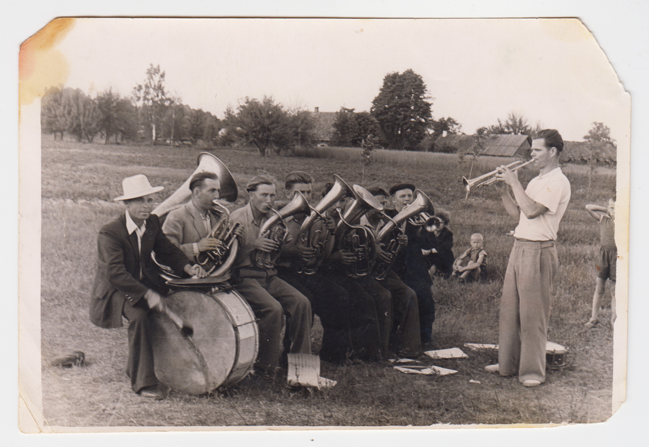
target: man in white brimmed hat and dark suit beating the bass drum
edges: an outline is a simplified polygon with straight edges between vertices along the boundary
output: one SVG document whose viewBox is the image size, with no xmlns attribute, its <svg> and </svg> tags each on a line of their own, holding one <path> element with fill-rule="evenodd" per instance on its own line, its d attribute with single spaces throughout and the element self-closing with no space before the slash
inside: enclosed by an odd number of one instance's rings
<svg viewBox="0 0 649 447">
<path fill-rule="evenodd" d="M 122 181 L 123 195 L 115 198 L 125 212 L 99 230 L 97 274 L 90 300 L 90 320 L 95 326 L 112 329 L 122 326 L 122 315 L 129 320 L 129 361 L 127 375 L 134 392 L 145 398 L 162 399 L 154 372 L 149 331 L 151 309 L 162 311 L 161 295 L 169 292 L 151 259 L 178 274 L 204 277 L 205 271 L 190 261 L 162 233 L 158 216 L 151 214 L 154 194 L 163 186 L 151 186 L 143 174 Z"/>
</svg>

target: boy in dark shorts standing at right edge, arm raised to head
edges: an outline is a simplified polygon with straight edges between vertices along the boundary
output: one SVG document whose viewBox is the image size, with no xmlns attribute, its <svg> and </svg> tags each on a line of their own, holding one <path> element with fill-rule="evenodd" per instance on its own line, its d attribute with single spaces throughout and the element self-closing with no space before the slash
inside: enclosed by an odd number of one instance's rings
<svg viewBox="0 0 649 447">
<path fill-rule="evenodd" d="M 593 312 L 591 319 L 583 326 L 594 327 L 598 323 L 598 313 L 604 290 L 606 290 L 606 280 L 610 279 L 611 288 L 611 326 L 615 323 L 615 270 L 617 265 L 617 246 L 615 246 L 615 196 L 609 199 L 608 207 L 600 205 L 586 205 L 586 210 L 598 220 L 600 224 L 600 253 L 595 264 L 597 275 L 595 278 L 595 294 L 593 295 Z"/>
</svg>

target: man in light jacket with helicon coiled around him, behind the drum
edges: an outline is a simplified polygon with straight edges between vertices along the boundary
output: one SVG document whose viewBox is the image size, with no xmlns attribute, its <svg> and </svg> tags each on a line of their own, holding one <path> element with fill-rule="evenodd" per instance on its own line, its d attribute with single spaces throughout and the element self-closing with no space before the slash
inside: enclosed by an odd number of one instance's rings
<svg viewBox="0 0 649 447">
<path fill-rule="evenodd" d="M 210 231 L 218 222 L 212 214 L 214 200 L 219 198 L 221 183 L 214 172 L 199 172 L 190 181 L 191 199 L 182 207 L 167 215 L 162 231 L 185 255 L 198 261 L 201 251 L 209 251 L 223 246 L 220 240 L 211 237 Z M 234 233 L 241 236 L 237 228 Z"/>
</svg>

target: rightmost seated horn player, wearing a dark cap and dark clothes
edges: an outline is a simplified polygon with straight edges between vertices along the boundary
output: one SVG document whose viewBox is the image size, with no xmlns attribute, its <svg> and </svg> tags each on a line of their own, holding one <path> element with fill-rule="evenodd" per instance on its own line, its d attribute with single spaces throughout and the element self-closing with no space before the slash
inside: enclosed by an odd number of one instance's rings
<svg viewBox="0 0 649 447">
<path fill-rule="evenodd" d="M 400 183 L 392 186 L 389 192 L 393 198 L 395 209 L 387 209 L 386 214 L 393 218 L 404 207 L 412 203 L 415 185 L 411 183 Z M 392 270 L 408 287 L 415 290 L 417 294 L 421 343 L 425 349 L 431 347 L 432 327 L 435 321 L 435 301 L 430 290 L 432 280 L 428 274 L 424 255 L 421 253 L 421 244 L 419 241 L 421 226 L 412 225 L 412 223 L 407 222 L 405 231 L 406 236 L 408 236 L 408 246 L 405 250 L 400 251 Z"/>
</svg>

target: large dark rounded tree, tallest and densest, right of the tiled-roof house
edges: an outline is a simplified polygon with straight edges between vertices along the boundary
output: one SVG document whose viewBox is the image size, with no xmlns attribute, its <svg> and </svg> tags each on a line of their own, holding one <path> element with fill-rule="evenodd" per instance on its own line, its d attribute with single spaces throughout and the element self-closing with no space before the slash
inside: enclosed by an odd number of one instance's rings
<svg viewBox="0 0 649 447">
<path fill-rule="evenodd" d="M 426 135 L 431 103 L 426 84 L 413 70 L 388 73 L 371 113 L 392 149 L 413 149 Z"/>
</svg>

